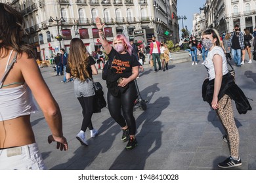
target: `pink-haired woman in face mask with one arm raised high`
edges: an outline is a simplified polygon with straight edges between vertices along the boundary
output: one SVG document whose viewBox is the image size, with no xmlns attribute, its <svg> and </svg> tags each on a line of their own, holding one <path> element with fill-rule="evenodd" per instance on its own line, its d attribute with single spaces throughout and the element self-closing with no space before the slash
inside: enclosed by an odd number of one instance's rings
<svg viewBox="0 0 256 183">
<path fill-rule="evenodd" d="M 135 137 L 136 122 L 133 116 L 133 106 L 137 98 L 134 80 L 139 75 L 139 61 L 132 54 L 133 47 L 125 35 L 117 34 L 111 46 L 103 32 L 104 24 L 98 17 L 96 27 L 102 46 L 109 58 L 109 63 L 106 63 L 109 67 L 106 78 L 104 78 L 108 88 L 108 110 L 112 118 L 121 126 L 123 131 L 121 141 L 128 141 L 126 149 L 131 150 L 138 144 Z"/>
</svg>

